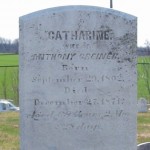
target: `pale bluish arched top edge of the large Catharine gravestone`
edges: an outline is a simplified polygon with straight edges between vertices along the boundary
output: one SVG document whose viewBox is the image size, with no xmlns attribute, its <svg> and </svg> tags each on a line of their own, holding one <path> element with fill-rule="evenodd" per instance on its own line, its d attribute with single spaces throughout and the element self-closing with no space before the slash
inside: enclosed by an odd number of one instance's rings
<svg viewBox="0 0 150 150">
<path fill-rule="evenodd" d="M 118 16 L 127 20 L 136 20 L 136 17 L 124 12 L 120 12 L 114 9 L 109 9 L 109 8 L 103 8 L 103 7 L 97 7 L 97 6 L 84 6 L 84 5 L 71 5 L 71 6 L 60 6 L 60 7 L 53 7 L 53 8 L 48 8 L 44 10 L 39 10 L 37 12 L 33 12 L 27 15 L 24 15 L 20 17 L 20 19 L 23 20 L 30 20 L 33 18 L 37 18 L 40 16 L 45 16 L 49 14 L 56 15 L 57 13 L 62 13 L 62 12 L 99 12 L 99 13 L 105 13 L 108 15 L 114 15 Z"/>
</svg>

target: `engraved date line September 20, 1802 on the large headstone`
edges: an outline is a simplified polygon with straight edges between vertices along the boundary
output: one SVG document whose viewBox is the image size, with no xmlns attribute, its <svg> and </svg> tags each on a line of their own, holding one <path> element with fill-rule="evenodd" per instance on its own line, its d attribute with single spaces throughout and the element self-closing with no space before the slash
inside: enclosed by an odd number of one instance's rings
<svg viewBox="0 0 150 150">
<path fill-rule="evenodd" d="M 76 70 L 76 69 L 75 69 Z M 84 68 L 87 71 L 87 67 Z M 66 69 L 64 71 L 70 71 L 70 69 Z M 119 75 L 107 75 L 107 74 L 88 74 L 84 77 L 82 76 L 73 76 L 70 74 L 65 74 L 64 76 L 58 77 L 51 77 L 50 75 L 41 75 L 37 74 L 31 78 L 32 83 L 39 83 L 39 84 L 50 84 L 50 83 L 99 83 L 99 82 L 124 82 L 124 78 L 122 74 Z"/>
</svg>

